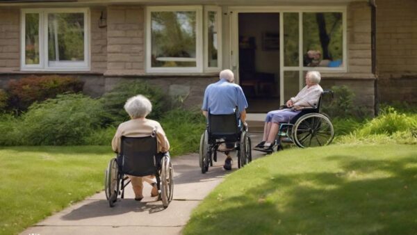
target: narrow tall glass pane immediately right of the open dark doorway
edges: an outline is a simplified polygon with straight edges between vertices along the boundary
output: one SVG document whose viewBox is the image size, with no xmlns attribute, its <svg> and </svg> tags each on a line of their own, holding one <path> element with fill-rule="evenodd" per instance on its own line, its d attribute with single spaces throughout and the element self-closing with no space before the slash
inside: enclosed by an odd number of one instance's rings
<svg viewBox="0 0 417 235">
<path fill-rule="evenodd" d="M 299 14 L 284 13 L 284 66 L 299 66 Z"/>
</svg>

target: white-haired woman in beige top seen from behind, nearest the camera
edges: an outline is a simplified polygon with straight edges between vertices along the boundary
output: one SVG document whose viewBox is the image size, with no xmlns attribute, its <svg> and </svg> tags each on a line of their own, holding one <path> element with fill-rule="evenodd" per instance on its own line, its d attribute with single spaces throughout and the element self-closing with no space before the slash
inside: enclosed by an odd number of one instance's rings
<svg viewBox="0 0 417 235">
<path fill-rule="evenodd" d="M 146 116 L 152 111 L 152 104 L 143 95 L 136 95 L 127 100 L 124 104 L 124 110 L 129 114 L 131 120 L 123 122 L 117 127 L 117 131 L 111 143 L 113 150 L 120 153 L 120 144 L 122 142 L 122 136 L 126 137 L 143 137 L 152 134 L 154 129 L 156 130 L 156 140 L 158 141 L 158 152 L 167 152 L 170 149 L 170 143 L 165 136 L 161 124 L 154 120 L 149 120 Z M 136 177 L 129 175 L 133 192 L 135 193 L 135 200 L 140 201 L 143 198 L 142 181 L 147 181 L 152 185 L 151 196 L 156 197 L 158 195 L 158 188 L 154 183 L 154 176 L 149 175 L 147 177 Z"/>
</svg>

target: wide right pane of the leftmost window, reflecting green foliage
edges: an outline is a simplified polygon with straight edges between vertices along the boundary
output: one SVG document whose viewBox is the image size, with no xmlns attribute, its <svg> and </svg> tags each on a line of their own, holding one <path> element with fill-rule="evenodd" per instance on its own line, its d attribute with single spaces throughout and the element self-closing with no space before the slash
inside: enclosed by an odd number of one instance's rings
<svg viewBox="0 0 417 235">
<path fill-rule="evenodd" d="M 49 65 L 84 60 L 84 14 L 48 14 Z"/>
</svg>

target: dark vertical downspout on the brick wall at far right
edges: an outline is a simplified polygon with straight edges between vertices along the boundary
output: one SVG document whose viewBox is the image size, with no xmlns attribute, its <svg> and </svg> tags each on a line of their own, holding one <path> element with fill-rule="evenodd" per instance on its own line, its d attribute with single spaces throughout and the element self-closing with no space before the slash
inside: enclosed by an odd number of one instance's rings
<svg viewBox="0 0 417 235">
<path fill-rule="evenodd" d="M 379 95 L 378 95 L 378 76 L 377 76 L 377 5 L 376 0 L 369 0 L 370 6 L 370 45 L 372 73 L 375 76 L 374 81 L 374 115 L 379 113 Z"/>
</svg>

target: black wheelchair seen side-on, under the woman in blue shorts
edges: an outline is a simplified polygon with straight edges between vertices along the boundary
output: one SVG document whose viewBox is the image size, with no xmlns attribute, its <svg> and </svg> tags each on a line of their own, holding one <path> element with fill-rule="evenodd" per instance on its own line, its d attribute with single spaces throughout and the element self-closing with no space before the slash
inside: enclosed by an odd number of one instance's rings
<svg viewBox="0 0 417 235">
<path fill-rule="evenodd" d="M 290 122 L 281 123 L 275 143 L 277 151 L 282 143 L 295 143 L 298 147 L 324 146 L 332 143 L 334 128 L 330 117 L 320 113 L 323 95 L 331 95 L 332 90 L 324 90 L 318 99 L 318 104 L 311 108 L 304 108 L 295 115 Z"/>
</svg>

